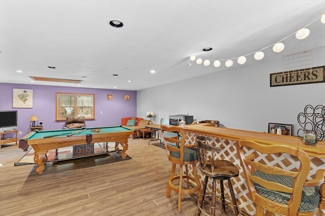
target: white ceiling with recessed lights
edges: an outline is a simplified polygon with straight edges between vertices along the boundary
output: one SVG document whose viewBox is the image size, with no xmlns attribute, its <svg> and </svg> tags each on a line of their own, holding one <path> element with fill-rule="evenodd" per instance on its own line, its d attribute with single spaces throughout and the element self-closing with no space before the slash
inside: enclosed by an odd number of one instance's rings
<svg viewBox="0 0 325 216">
<path fill-rule="evenodd" d="M 223 60 L 253 53 L 325 13 L 325 1 L 0 0 L 0 4 L 0 82 L 76 87 L 31 83 L 29 76 L 86 76 L 81 87 L 117 90 L 141 90 L 230 70 L 224 61 L 218 68 L 213 62 L 208 67 L 189 65 L 189 56 Z M 124 26 L 109 26 L 113 19 Z M 306 39 L 291 35 L 283 40 L 283 52 L 265 49 L 261 61 L 325 46 L 325 25 L 316 20 L 308 28 Z M 203 52 L 206 47 L 213 50 Z M 258 63 L 253 55 L 246 57 L 246 64 Z M 233 67 L 243 65 L 234 59 Z"/>
</svg>

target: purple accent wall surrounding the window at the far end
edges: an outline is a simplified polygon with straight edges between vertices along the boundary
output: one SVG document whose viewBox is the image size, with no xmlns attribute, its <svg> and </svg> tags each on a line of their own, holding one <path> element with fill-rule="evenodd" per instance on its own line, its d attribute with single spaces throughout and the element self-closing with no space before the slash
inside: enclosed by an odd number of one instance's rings
<svg viewBox="0 0 325 216">
<path fill-rule="evenodd" d="M 33 90 L 32 108 L 12 108 L 13 89 Z M 38 122 L 43 122 L 44 130 L 62 128 L 64 121 L 55 121 L 57 92 L 95 95 L 95 119 L 86 120 L 87 127 L 119 125 L 122 117 L 137 115 L 136 91 L 0 83 L 0 110 L 18 110 L 17 130 L 22 131 L 22 135 L 18 135 L 19 139 L 28 133 L 31 115 L 38 116 Z M 107 94 L 113 94 L 113 100 L 107 100 Z M 130 95 L 129 101 L 124 101 L 124 94 Z"/>
</svg>

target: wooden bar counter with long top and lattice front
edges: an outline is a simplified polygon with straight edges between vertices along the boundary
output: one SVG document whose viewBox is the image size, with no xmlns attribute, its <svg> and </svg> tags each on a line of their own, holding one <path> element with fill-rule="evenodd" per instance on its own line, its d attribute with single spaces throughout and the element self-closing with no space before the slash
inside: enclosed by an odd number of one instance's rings
<svg viewBox="0 0 325 216">
<path fill-rule="evenodd" d="M 245 182 L 245 177 L 243 175 L 243 170 L 240 165 L 240 161 L 237 156 L 235 143 L 237 140 L 245 139 L 252 140 L 259 143 L 265 144 L 280 144 L 288 145 L 295 148 L 299 148 L 307 152 L 311 159 L 311 167 L 309 173 L 309 179 L 314 177 L 316 171 L 319 168 L 325 168 L 325 142 L 318 142 L 316 145 L 309 146 L 305 145 L 298 137 L 268 134 L 261 132 L 252 132 L 252 131 L 243 131 L 240 129 L 231 129 L 231 128 L 221 128 L 205 124 L 192 124 L 182 127 L 185 131 L 185 142 L 187 144 L 192 144 L 196 141 L 195 137 L 197 135 L 204 135 L 211 137 L 210 145 L 219 146 L 221 152 L 218 155 L 218 159 L 227 159 L 233 162 L 240 171 L 240 176 L 233 178 L 233 186 L 236 194 L 236 199 L 238 206 L 240 207 L 241 213 L 244 215 L 254 215 L 255 207 L 251 202 L 248 194 L 248 189 Z M 272 158 L 266 158 L 261 156 L 261 160 L 265 163 L 272 163 L 281 167 L 284 167 L 288 170 L 296 169 L 299 166 L 299 163 L 295 162 L 289 157 L 283 156 L 281 161 L 274 161 Z M 204 176 L 199 172 L 199 179 L 203 183 Z M 212 184 L 208 185 L 209 190 L 211 191 Z M 220 194 L 220 189 L 216 189 L 216 194 Z M 229 189 L 226 188 L 225 196 L 230 198 Z M 319 215 L 325 214 L 325 185 L 321 187 L 321 203 L 319 205 Z"/>
</svg>

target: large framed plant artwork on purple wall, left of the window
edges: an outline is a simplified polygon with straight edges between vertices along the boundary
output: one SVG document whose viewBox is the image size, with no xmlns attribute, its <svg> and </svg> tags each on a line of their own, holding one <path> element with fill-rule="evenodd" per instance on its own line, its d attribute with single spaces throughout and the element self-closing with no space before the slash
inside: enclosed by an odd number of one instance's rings
<svg viewBox="0 0 325 216">
<path fill-rule="evenodd" d="M 13 89 L 12 108 L 32 108 L 32 90 Z"/>
</svg>

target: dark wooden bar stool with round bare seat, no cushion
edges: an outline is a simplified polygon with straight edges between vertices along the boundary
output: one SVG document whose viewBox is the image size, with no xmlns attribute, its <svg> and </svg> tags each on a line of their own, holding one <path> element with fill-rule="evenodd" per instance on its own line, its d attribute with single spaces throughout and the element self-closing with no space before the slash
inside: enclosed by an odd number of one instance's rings
<svg viewBox="0 0 325 216">
<path fill-rule="evenodd" d="M 204 185 L 202 189 L 202 196 L 198 201 L 198 216 L 200 216 L 201 211 L 206 215 L 215 215 L 215 190 L 216 190 L 216 180 L 220 181 L 220 191 L 221 191 L 221 206 L 222 213 L 225 214 L 225 201 L 224 201 L 224 189 L 223 181 L 228 181 L 228 187 L 230 190 L 232 203 L 234 206 L 235 214 L 239 214 L 239 209 L 237 207 L 237 202 L 234 194 L 233 185 L 231 178 L 239 176 L 238 168 L 228 160 L 215 160 L 216 153 L 221 151 L 218 147 L 213 147 L 208 145 L 206 137 L 197 136 L 197 150 L 200 159 L 199 168 L 203 174 L 205 174 Z M 208 179 L 212 178 L 212 196 L 211 196 L 211 212 L 210 214 L 202 210 L 204 197 L 206 195 Z"/>
</svg>

